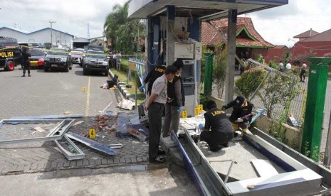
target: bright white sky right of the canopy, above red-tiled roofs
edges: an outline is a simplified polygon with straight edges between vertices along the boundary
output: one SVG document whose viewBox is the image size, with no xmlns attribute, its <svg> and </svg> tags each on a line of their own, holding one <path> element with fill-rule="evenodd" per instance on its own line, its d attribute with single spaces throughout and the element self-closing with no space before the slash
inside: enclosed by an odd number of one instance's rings
<svg viewBox="0 0 331 196">
<path fill-rule="evenodd" d="M 294 44 L 293 36 L 310 30 L 322 32 L 331 28 L 331 1 L 290 0 L 288 5 L 249 13 L 256 30 L 275 45 Z"/>
</svg>

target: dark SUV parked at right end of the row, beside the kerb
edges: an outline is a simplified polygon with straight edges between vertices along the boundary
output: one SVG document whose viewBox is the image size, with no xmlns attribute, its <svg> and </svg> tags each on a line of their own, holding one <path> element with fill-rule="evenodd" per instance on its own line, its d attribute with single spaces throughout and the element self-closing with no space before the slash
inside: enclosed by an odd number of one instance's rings
<svg viewBox="0 0 331 196">
<path fill-rule="evenodd" d="M 103 72 L 108 76 L 109 59 L 99 50 L 88 50 L 83 58 L 83 75 L 87 75 L 89 71 Z"/>
</svg>

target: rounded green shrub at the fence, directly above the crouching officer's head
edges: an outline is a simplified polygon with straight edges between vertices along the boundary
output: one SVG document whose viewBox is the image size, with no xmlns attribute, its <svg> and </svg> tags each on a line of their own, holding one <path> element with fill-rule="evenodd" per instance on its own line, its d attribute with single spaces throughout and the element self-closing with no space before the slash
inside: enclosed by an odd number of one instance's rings
<svg viewBox="0 0 331 196">
<path fill-rule="evenodd" d="M 265 77 L 266 72 L 262 67 L 247 70 L 236 80 L 234 92 L 236 92 L 236 94 L 243 94 L 243 96 L 247 98 L 251 97 L 251 94 L 256 91 L 258 85 L 261 84 Z"/>
</svg>

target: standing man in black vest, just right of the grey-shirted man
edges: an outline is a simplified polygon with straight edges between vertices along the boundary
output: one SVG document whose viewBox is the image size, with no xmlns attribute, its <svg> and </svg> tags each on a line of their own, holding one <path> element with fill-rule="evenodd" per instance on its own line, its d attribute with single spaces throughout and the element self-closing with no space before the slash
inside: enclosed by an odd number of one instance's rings
<svg viewBox="0 0 331 196">
<path fill-rule="evenodd" d="M 185 105 L 184 86 L 180 74 L 182 73 L 184 63 L 182 60 L 176 60 L 172 65 L 177 67 L 177 74 L 174 80 L 169 81 L 167 84 L 167 104 L 165 107 L 163 134 L 165 138 L 170 136 L 170 131 L 177 134 L 179 126 L 180 113 Z"/>
</svg>

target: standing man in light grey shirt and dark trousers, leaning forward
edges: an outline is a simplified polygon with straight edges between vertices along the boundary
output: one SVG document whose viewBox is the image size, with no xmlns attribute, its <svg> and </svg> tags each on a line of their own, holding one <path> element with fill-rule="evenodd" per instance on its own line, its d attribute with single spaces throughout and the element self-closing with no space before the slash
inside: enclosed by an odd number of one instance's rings
<svg viewBox="0 0 331 196">
<path fill-rule="evenodd" d="M 164 104 L 167 102 L 167 81 L 173 80 L 176 75 L 177 68 L 169 65 L 161 77 L 154 81 L 152 94 L 146 105 L 148 110 L 149 123 L 149 146 L 148 157 L 150 163 L 163 163 L 164 158 L 158 156 L 159 152 L 159 137 L 162 129 L 162 116 L 160 111 L 164 110 Z"/>
</svg>

